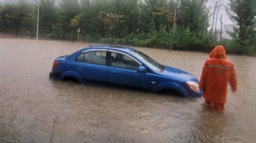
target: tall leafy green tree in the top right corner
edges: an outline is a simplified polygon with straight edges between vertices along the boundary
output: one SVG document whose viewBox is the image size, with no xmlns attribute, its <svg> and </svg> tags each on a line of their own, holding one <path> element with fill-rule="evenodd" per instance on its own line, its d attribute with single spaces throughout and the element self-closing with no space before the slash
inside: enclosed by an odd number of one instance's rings
<svg viewBox="0 0 256 143">
<path fill-rule="evenodd" d="M 233 32 L 227 31 L 238 42 L 237 53 L 244 54 L 256 42 L 256 1 L 255 0 L 230 0 L 225 7 L 227 15 L 238 28 L 233 27 Z"/>
</svg>

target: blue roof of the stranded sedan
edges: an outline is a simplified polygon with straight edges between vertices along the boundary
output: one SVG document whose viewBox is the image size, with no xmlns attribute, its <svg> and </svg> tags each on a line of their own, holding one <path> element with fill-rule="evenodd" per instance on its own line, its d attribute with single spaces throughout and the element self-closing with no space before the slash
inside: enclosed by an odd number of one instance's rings
<svg viewBox="0 0 256 143">
<path fill-rule="evenodd" d="M 83 48 L 83 50 L 93 50 L 93 49 L 118 50 L 118 51 L 124 51 L 124 52 L 135 51 L 135 49 L 133 49 L 132 47 L 117 46 L 117 45 L 95 45 L 95 46 Z"/>
</svg>

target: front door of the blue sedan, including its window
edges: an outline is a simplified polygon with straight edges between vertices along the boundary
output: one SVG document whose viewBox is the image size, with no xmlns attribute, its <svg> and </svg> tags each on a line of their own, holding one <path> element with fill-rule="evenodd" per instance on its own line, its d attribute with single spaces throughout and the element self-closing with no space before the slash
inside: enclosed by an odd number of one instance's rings
<svg viewBox="0 0 256 143">
<path fill-rule="evenodd" d="M 110 50 L 110 65 L 108 67 L 108 82 L 110 85 L 121 85 L 130 88 L 148 89 L 147 73 L 138 73 L 141 63 L 131 56 Z"/>
</svg>

